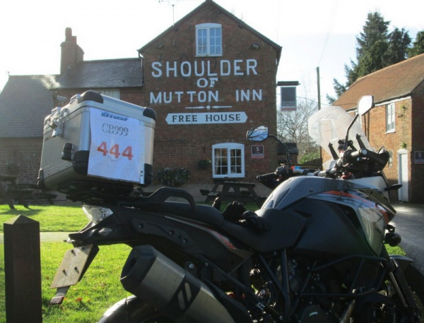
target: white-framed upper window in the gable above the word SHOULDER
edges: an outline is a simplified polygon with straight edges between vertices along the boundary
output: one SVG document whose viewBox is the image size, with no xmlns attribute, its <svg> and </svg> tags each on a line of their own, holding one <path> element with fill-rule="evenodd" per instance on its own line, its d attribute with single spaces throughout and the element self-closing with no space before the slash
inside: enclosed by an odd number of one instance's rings
<svg viewBox="0 0 424 323">
<path fill-rule="evenodd" d="M 196 25 L 196 55 L 220 56 L 223 54 L 223 36 L 218 23 Z"/>
</svg>

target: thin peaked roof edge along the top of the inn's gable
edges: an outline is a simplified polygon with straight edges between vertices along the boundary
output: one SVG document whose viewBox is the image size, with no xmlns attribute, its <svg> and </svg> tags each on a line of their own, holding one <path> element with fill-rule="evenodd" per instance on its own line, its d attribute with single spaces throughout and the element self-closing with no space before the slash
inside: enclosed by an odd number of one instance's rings
<svg viewBox="0 0 424 323">
<path fill-rule="evenodd" d="M 269 45 L 271 45 L 271 47 L 274 47 L 276 49 L 276 51 L 277 51 L 277 61 L 278 62 L 280 61 L 281 49 L 282 49 L 282 47 L 280 45 L 276 44 L 271 39 L 265 37 L 264 35 L 262 35 L 257 30 L 254 30 L 252 27 L 250 27 L 249 25 L 247 25 L 247 23 L 245 23 L 243 20 L 240 20 L 239 18 L 237 18 L 236 16 L 234 16 L 232 13 L 226 11 L 223 7 L 219 6 L 218 4 L 216 4 L 215 2 L 213 2 L 212 0 L 206 0 L 206 1 L 204 1 L 200 6 L 198 6 L 193 11 L 191 11 L 190 13 L 188 13 L 186 16 L 184 16 L 183 18 L 181 18 L 180 20 L 178 20 L 177 23 L 175 23 L 174 25 L 170 26 L 170 28 L 167 28 L 167 30 L 165 30 L 160 35 L 158 35 L 158 37 L 155 37 L 153 40 L 151 40 L 151 42 L 148 42 L 146 45 L 144 45 L 143 47 L 141 47 L 141 49 L 139 49 L 139 52 L 141 53 L 146 47 L 149 47 L 152 43 L 154 43 L 156 41 L 156 39 L 158 39 L 160 37 L 163 37 L 163 35 L 165 35 L 167 32 L 172 32 L 175 28 L 178 28 L 179 25 L 184 24 L 184 22 L 187 19 L 189 19 L 190 17 L 192 17 L 194 14 L 198 13 L 199 11 L 204 10 L 204 7 L 206 7 L 206 6 L 214 6 L 214 7 L 218 8 L 218 10 L 220 12 L 224 13 L 226 16 L 228 16 L 232 20 L 235 20 L 235 23 L 237 23 L 237 25 L 239 25 L 240 28 L 245 28 L 246 30 L 249 30 L 249 32 L 252 32 L 254 35 L 257 35 L 257 37 L 259 37 L 262 40 L 264 40 L 264 42 L 266 42 Z"/>
</svg>

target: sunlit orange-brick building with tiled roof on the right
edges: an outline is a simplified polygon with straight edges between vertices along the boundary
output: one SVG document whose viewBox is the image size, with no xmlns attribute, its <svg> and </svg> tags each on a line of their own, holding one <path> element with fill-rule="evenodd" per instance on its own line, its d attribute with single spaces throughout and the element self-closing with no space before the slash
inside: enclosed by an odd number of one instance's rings
<svg viewBox="0 0 424 323">
<path fill-rule="evenodd" d="M 424 54 L 359 78 L 334 105 L 355 111 L 363 95 L 373 95 L 376 106 L 363 116 L 365 134 L 376 150 L 384 146 L 390 152 L 384 169 L 390 183 L 403 184 L 391 198 L 422 203 Z"/>
</svg>

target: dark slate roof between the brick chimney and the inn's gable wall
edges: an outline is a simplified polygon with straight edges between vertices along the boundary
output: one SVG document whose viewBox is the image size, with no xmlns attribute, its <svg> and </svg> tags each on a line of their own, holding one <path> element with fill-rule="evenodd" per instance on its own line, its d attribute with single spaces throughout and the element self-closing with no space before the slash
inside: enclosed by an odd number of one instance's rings
<svg viewBox="0 0 424 323">
<path fill-rule="evenodd" d="M 141 59 L 81 61 L 59 79 L 61 89 L 141 87 Z"/>
</svg>

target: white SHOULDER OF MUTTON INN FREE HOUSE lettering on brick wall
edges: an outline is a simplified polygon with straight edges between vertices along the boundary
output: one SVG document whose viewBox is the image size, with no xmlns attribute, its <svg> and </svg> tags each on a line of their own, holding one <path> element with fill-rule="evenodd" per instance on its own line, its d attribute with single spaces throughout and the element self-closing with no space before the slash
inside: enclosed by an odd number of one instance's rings
<svg viewBox="0 0 424 323">
<path fill-rule="evenodd" d="M 153 61 L 151 76 L 159 78 L 196 78 L 192 90 L 177 90 L 170 92 L 150 92 L 151 104 L 182 104 L 188 103 L 187 112 L 167 114 L 165 118 L 169 125 L 182 124 L 213 124 L 213 123 L 245 123 L 245 111 L 231 111 L 232 104 L 238 102 L 262 101 L 262 89 L 234 89 L 233 100 L 225 104 L 220 99 L 217 87 L 220 78 L 253 77 L 258 75 L 256 59 L 221 59 L 218 68 L 211 68 L 210 60 L 199 61 Z M 230 110 L 230 111 L 228 111 Z"/>
</svg>

